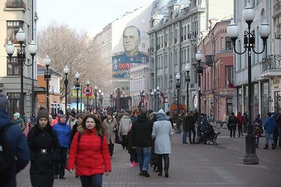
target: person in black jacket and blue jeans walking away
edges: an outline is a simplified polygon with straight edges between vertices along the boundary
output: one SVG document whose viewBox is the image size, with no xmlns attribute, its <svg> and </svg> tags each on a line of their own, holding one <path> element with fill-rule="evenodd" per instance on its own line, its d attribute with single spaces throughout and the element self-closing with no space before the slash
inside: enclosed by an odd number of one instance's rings
<svg viewBox="0 0 281 187">
<path fill-rule="evenodd" d="M 152 122 L 148 120 L 146 109 L 141 109 L 138 119 L 131 127 L 131 144 L 136 146 L 138 164 L 141 170 L 140 175 L 149 177 L 148 165 L 151 157 L 152 146 Z"/>
</svg>

